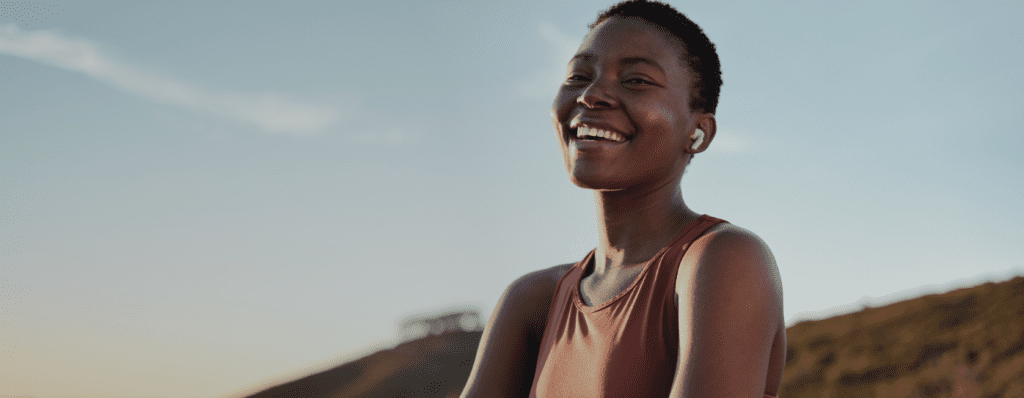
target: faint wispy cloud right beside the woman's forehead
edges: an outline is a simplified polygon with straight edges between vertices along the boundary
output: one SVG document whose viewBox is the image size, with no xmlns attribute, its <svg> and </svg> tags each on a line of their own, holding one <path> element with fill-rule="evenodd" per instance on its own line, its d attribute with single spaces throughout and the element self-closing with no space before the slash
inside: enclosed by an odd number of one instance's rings
<svg viewBox="0 0 1024 398">
<path fill-rule="evenodd" d="M 548 45 L 548 57 L 542 63 L 544 69 L 534 71 L 530 76 L 520 80 L 516 90 L 526 97 L 551 99 L 564 78 L 565 64 L 580 48 L 582 39 L 562 32 L 551 23 L 538 26 L 537 33 Z"/>
</svg>

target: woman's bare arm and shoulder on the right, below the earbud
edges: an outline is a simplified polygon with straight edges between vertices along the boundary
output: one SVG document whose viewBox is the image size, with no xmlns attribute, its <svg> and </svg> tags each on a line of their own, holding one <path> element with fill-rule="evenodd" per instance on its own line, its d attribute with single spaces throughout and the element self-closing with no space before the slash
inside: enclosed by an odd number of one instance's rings
<svg viewBox="0 0 1024 398">
<path fill-rule="evenodd" d="M 785 330 L 768 247 L 728 225 L 694 241 L 676 283 L 679 362 L 670 396 L 761 398 L 772 345 Z"/>
</svg>

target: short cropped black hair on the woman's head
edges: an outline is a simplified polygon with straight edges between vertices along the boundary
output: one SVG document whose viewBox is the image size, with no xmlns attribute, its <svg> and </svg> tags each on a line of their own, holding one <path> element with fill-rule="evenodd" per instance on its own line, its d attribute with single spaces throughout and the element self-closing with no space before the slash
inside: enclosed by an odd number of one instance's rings
<svg viewBox="0 0 1024 398">
<path fill-rule="evenodd" d="M 597 16 L 590 29 L 611 17 L 640 18 L 667 31 L 683 46 L 683 61 L 696 76 L 690 107 L 715 113 L 722 90 L 722 65 L 715 44 L 690 18 L 671 5 L 646 0 L 627 0 L 611 6 Z"/>
</svg>

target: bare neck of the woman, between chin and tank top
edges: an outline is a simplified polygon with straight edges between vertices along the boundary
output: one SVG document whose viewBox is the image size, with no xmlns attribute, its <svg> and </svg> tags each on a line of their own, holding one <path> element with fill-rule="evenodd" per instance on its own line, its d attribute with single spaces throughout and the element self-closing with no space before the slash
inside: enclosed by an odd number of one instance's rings
<svg viewBox="0 0 1024 398">
<path fill-rule="evenodd" d="M 642 193 L 595 191 L 594 201 L 598 275 L 646 262 L 699 217 L 686 207 L 678 183 Z"/>
</svg>

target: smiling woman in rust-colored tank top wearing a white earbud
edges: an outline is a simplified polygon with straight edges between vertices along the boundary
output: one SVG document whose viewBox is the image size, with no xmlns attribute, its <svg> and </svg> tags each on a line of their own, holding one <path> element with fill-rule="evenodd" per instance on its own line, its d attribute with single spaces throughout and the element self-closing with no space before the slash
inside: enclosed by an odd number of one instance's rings
<svg viewBox="0 0 1024 398">
<path fill-rule="evenodd" d="M 552 108 L 569 179 L 594 191 L 599 245 L 509 285 L 463 397 L 773 397 L 782 291 L 754 233 L 686 207 L 713 142 L 715 46 L 671 6 L 601 13 Z"/>
</svg>

